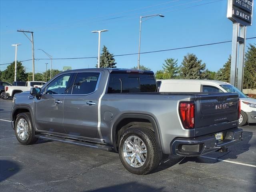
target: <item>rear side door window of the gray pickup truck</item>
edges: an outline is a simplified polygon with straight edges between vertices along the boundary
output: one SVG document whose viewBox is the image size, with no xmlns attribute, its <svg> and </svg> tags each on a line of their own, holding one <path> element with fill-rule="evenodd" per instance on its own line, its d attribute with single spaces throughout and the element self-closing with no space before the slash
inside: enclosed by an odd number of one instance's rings
<svg viewBox="0 0 256 192">
<path fill-rule="evenodd" d="M 89 94 L 95 91 L 100 73 L 78 73 L 72 94 Z"/>
</svg>

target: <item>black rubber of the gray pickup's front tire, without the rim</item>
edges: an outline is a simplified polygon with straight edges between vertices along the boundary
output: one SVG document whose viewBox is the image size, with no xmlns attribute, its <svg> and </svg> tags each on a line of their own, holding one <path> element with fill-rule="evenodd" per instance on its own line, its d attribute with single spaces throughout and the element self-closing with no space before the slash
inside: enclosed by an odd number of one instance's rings
<svg viewBox="0 0 256 192">
<path fill-rule="evenodd" d="M 21 140 L 17 134 L 17 124 L 21 118 L 26 120 L 28 124 L 28 137 L 25 140 Z M 34 128 L 32 127 L 32 120 L 29 113 L 20 113 L 17 115 L 14 131 L 15 131 L 15 136 L 18 142 L 20 142 L 21 144 L 24 144 L 24 145 L 33 144 L 37 140 L 37 138 L 35 138 L 35 132 L 34 132 Z"/>
</svg>

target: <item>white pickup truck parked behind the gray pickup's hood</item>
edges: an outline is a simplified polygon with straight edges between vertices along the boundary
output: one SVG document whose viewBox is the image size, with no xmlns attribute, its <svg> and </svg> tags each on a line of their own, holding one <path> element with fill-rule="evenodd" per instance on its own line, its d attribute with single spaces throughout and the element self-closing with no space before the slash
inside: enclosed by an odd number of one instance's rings
<svg viewBox="0 0 256 192">
<path fill-rule="evenodd" d="M 13 97 L 17 93 L 30 91 L 30 89 L 33 87 L 42 87 L 45 83 L 46 82 L 43 81 L 27 81 L 26 86 L 4 86 L 5 94 L 3 96 L 3 99 Z"/>
</svg>

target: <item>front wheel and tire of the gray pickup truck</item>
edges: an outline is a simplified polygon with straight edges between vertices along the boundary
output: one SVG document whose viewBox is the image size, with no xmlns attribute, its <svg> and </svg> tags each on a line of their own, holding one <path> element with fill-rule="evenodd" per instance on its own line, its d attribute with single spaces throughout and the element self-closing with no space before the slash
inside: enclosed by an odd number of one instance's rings
<svg viewBox="0 0 256 192">
<path fill-rule="evenodd" d="M 20 113 L 17 115 L 14 130 L 18 142 L 23 145 L 34 144 L 38 140 L 35 137 L 35 130 L 29 113 Z"/>
</svg>

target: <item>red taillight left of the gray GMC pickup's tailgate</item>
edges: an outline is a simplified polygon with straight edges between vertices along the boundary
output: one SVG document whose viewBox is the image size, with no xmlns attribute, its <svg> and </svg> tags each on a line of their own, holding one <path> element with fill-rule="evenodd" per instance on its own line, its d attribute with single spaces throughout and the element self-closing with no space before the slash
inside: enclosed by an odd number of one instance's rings
<svg viewBox="0 0 256 192">
<path fill-rule="evenodd" d="M 193 129 L 195 125 L 194 102 L 180 102 L 180 119 L 185 129 Z"/>
</svg>

